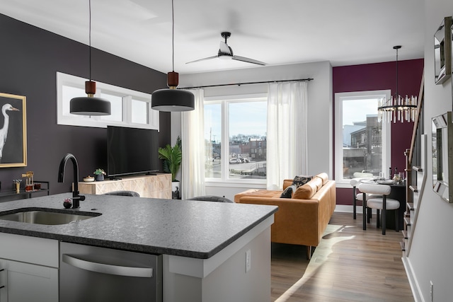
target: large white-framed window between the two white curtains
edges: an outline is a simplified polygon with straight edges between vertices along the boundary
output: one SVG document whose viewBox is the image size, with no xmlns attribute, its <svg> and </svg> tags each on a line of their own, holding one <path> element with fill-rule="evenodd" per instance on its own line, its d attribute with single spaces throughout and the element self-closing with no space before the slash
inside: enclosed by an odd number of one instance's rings
<svg viewBox="0 0 453 302">
<path fill-rule="evenodd" d="M 207 181 L 265 182 L 267 106 L 265 95 L 205 98 Z"/>
</svg>

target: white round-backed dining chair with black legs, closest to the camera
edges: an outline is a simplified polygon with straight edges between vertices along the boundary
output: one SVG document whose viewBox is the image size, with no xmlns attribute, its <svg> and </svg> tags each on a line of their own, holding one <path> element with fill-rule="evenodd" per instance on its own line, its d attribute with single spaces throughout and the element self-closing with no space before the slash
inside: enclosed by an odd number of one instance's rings
<svg viewBox="0 0 453 302">
<path fill-rule="evenodd" d="M 389 185 L 372 185 L 367 183 L 360 183 L 357 187 L 363 194 L 364 207 L 363 207 L 363 229 L 367 229 L 367 209 L 376 209 L 376 227 L 379 228 L 379 211 L 382 210 L 382 235 L 386 231 L 386 210 L 395 210 L 395 231 L 399 231 L 398 225 L 398 209 L 399 202 L 396 199 L 387 198 L 391 192 Z M 380 194 L 382 197 L 368 197 L 367 194 Z M 366 205 L 366 207 L 365 207 Z M 369 222 L 369 219 L 368 219 Z"/>
</svg>

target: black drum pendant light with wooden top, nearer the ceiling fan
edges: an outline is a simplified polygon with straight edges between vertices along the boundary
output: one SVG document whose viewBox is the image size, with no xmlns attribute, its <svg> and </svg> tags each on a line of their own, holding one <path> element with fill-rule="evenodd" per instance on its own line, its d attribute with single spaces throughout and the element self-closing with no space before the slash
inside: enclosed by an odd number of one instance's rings
<svg viewBox="0 0 453 302">
<path fill-rule="evenodd" d="M 159 111 L 190 111 L 195 109 L 195 96 L 190 91 L 178 90 L 179 74 L 175 72 L 175 13 L 171 1 L 173 71 L 167 74 L 168 89 L 159 89 L 151 95 L 151 108 Z"/>
</svg>

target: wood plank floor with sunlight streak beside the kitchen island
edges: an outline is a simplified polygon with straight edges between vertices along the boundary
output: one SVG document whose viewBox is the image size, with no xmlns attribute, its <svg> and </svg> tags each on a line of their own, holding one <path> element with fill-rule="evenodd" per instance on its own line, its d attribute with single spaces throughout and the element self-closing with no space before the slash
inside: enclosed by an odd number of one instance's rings
<svg viewBox="0 0 453 302">
<path fill-rule="evenodd" d="M 401 232 L 383 236 L 373 216 L 334 213 L 311 260 L 305 247 L 272 245 L 272 298 L 294 301 L 414 301 L 401 261 Z"/>
</svg>

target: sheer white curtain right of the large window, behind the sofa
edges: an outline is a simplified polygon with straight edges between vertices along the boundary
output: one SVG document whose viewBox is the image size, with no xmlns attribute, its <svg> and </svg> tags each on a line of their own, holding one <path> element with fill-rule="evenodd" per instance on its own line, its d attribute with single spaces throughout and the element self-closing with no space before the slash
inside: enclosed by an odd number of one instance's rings
<svg viewBox="0 0 453 302">
<path fill-rule="evenodd" d="M 307 173 L 307 83 L 268 85 L 267 187 Z"/>
</svg>

